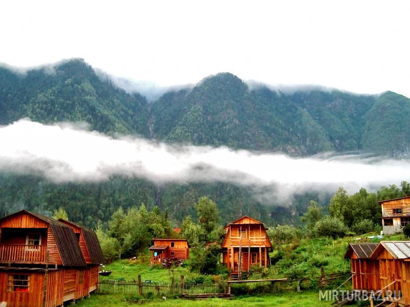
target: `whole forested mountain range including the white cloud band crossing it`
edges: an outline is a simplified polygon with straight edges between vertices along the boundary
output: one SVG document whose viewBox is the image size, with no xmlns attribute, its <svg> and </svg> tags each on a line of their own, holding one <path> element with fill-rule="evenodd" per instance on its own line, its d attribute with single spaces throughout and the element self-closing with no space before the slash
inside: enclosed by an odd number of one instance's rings
<svg viewBox="0 0 410 307">
<path fill-rule="evenodd" d="M 114 81 L 80 59 L 0 68 L 0 215 L 64 207 L 95 227 L 144 203 L 178 225 L 208 195 L 223 223 L 295 224 L 339 186 L 407 180 L 400 94 L 281 91 L 221 73 L 148 101 Z"/>
</svg>

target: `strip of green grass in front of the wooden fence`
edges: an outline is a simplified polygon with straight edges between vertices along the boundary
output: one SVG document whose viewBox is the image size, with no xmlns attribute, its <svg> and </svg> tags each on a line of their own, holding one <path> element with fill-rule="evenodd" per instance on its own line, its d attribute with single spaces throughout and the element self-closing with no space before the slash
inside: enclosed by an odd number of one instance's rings
<svg viewBox="0 0 410 307">
<path fill-rule="evenodd" d="M 116 295 L 92 295 L 88 299 L 77 301 L 76 306 L 90 307 L 129 307 L 138 303 L 127 302 L 124 297 Z M 277 306 L 277 307 L 324 307 L 330 306 L 329 301 L 319 301 L 317 291 L 287 293 L 282 295 L 264 295 L 264 296 L 243 296 L 229 299 L 210 298 L 206 300 L 184 300 L 184 299 L 160 299 L 141 300 L 139 304 L 144 306 L 161 306 L 161 307 L 210 307 L 210 306 L 227 306 L 227 307 L 242 307 L 242 306 Z"/>
</svg>

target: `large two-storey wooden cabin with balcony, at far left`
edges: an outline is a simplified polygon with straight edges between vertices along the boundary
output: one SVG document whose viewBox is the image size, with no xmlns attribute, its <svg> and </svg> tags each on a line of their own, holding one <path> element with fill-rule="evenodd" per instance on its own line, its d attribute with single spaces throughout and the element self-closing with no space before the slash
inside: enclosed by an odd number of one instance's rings
<svg viewBox="0 0 410 307">
<path fill-rule="evenodd" d="M 89 295 L 98 282 L 93 262 L 101 258 L 87 264 L 80 238 L 72 226 L 26 210 L 0 218 L 0 302 L 38 307 L 45 295 L 45 305 L 53 307 Z"/>
</svg>

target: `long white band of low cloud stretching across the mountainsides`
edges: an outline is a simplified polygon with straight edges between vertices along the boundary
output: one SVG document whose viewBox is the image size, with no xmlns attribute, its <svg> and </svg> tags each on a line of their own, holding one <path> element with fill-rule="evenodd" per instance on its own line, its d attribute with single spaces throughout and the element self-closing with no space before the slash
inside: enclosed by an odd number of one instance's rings
<svg viewBox="0 0 410 307">
<path fill-rule="evenodd" d="M 280 153 L 228 147 L 175 145 L 138 137 L 114 139 L 86 125 L 52 125 L 28 119 L 0 127 L 0 171 L 35 173 L 56 182 L 97 182 L 113 175 L 156 184 L 225 182 L 261 197 L 284 199 L 294 192 L 335 191 L 344 186 L 397 184 L 410 162 L 370 155 L 331 153 L 291 158 Z"/>
</svg>

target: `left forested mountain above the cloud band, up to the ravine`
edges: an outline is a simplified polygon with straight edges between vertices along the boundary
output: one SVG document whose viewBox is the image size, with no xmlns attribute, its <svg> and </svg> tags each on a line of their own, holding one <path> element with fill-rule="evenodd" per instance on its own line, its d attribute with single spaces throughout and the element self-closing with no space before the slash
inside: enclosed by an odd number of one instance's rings
<svg viewBox="0 0 410 307">
<path fill-rule="evenodd" d="M 50 123 L 86 121 L 109 135 L 149 136 L 147 101 L 101 80 L 83 60 L 15 74 L 0 68 L 0 124 L 22 117 Z"/>
</svg>

